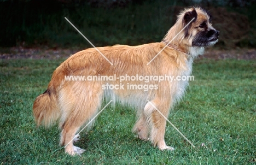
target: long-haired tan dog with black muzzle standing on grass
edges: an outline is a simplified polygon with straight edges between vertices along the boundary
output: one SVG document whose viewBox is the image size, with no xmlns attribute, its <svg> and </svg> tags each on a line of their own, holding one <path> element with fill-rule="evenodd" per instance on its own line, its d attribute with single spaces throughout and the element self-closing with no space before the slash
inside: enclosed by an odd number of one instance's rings
<svg viewBox="0 0 256 165">
<path fill-rule="evenodd" d="M 170 109 L 183 97 L 188 80 L 154 78 L 191 74 L 194 58 L 218 41 L 219 31 L 213 28 L 211 19 L 205 9 L 190 7 L 181 11 L 159 43 L 90 48 L 72 55 L 56 68 L 48 89 L 34 101 L 37 126 L 49 127 L 58 121 L 60 145 L 65 146 L 69 155 L 80 155 L 85 150 L 73 145 L 77 140 L 75 134 L 97 114 L 102 99 L 108 98 L 135 107 L 137 121 L 133 132 L 140 139 L 150 140 L 160 150 L 173 150 L 164 140 L 166 120 L 162 115 L 168 117 Z M 112 79 L 65 79 L 67 76 L 96 78 L 101 75 L 112 76 Z M 122 78 L 123 85 L 113 76 Z"/>
</svg>

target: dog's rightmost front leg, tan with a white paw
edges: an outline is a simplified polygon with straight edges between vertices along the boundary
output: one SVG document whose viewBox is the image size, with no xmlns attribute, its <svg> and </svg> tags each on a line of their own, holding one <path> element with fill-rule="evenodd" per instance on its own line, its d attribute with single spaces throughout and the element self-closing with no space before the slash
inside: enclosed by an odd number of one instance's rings
<svg viewBox="0 0 256 165">
<path fill-rule="evenodd" d="M 153 106 L 153 105 L 154 106 Z M 150 113 L 151 132 L 150 140 L 154 146 L 158 146 L 160 150 L 174 150 L 172 147 L 165 144 L 165 126 L 166 120 L 158 110 L 167 118 L 170 110 L 170 100 L 166 98 L 156 98 L 151 102 L 148 102 L 144 108 L 144 111 Z"/>
</svg>

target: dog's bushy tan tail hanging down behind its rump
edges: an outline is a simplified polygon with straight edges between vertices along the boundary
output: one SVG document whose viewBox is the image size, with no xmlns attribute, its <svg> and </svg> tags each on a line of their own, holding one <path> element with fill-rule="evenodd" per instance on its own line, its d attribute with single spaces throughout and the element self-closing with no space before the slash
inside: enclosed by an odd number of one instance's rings
<svg viewBox="0 0 256 165">
<path fill-rule="evenodd" d="M 61 81 L 63 80 L 61 76 L 63 76 L 63 72 L 61 72 L 61 68 L 59 67 L 54 71 L 47 90 L 34 101 L 33 115 L 37 126 L 42 124 L 45 127 L 50 127 L 60 118 L 61 114 L 56 89 L 61 85 Z"/>
</svg>

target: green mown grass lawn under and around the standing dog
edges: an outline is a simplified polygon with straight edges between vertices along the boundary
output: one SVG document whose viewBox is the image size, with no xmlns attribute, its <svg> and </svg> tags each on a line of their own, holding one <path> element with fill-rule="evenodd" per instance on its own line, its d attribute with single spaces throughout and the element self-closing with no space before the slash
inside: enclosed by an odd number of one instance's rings
<svg viewBox="0 0 256 165">
<path fill-rule="evenodd" d="M 160 151 L 131 133 L 133 109 L 109 105 L 80 134 L 81 157 L 65 154 L 57 126 L 37 129 L 32 116 L 60 62 L 0 61 L 0 164 L 255 164 L 255 61 L 195 62 L 195 81 L 169 120 L 196 148 L 167 123 L 166 143 L 176 150 Z"/>
</svg>

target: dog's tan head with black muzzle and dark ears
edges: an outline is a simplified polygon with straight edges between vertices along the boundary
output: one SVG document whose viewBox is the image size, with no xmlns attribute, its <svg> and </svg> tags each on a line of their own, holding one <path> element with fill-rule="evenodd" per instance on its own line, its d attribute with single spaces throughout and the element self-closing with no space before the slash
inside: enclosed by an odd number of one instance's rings
<svg viewBox="0 0 256 165">
<path fill-rule="evenodd" d="M 213 28 L 211 21 L 212 16 L 205 9 L 185 9 L 178 15 L 175 25 L 168 31 L 164 40 L 173 40 L 174 44 L 182 47 L 214 45 L 218 42 L 219 31 Z"/>
</svg>

